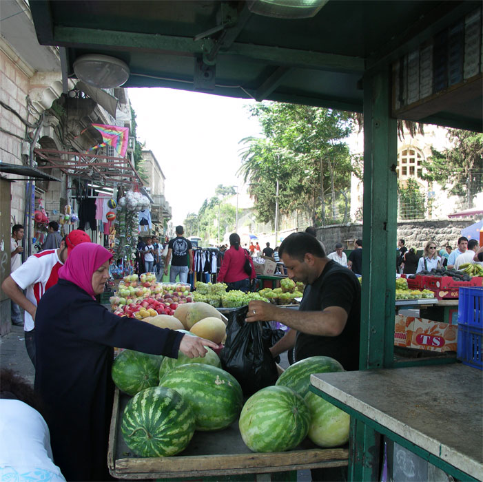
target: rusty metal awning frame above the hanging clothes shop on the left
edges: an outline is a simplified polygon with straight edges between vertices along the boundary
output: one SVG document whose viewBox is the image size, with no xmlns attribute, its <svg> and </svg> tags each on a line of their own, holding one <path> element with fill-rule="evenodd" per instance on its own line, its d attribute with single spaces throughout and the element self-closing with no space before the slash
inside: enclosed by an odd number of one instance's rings
<svg viewBox="0 0 483 482">
<path fill-rule="evenodd" d="M 137 185 L 143 187 L 143 181 L 130 159 L 99 154 L 87 154 L 76 151 L 57 151 L 56 149 L 34 149 L 39 161 L 46 165 L 38 169 L 60 169 L 67 176 L 104 182 L 105 185 Z M 92 169 L 92 173 L 90 170 Z M 99 175 L 93 178 L 92 174 Z"/>
</svg>

